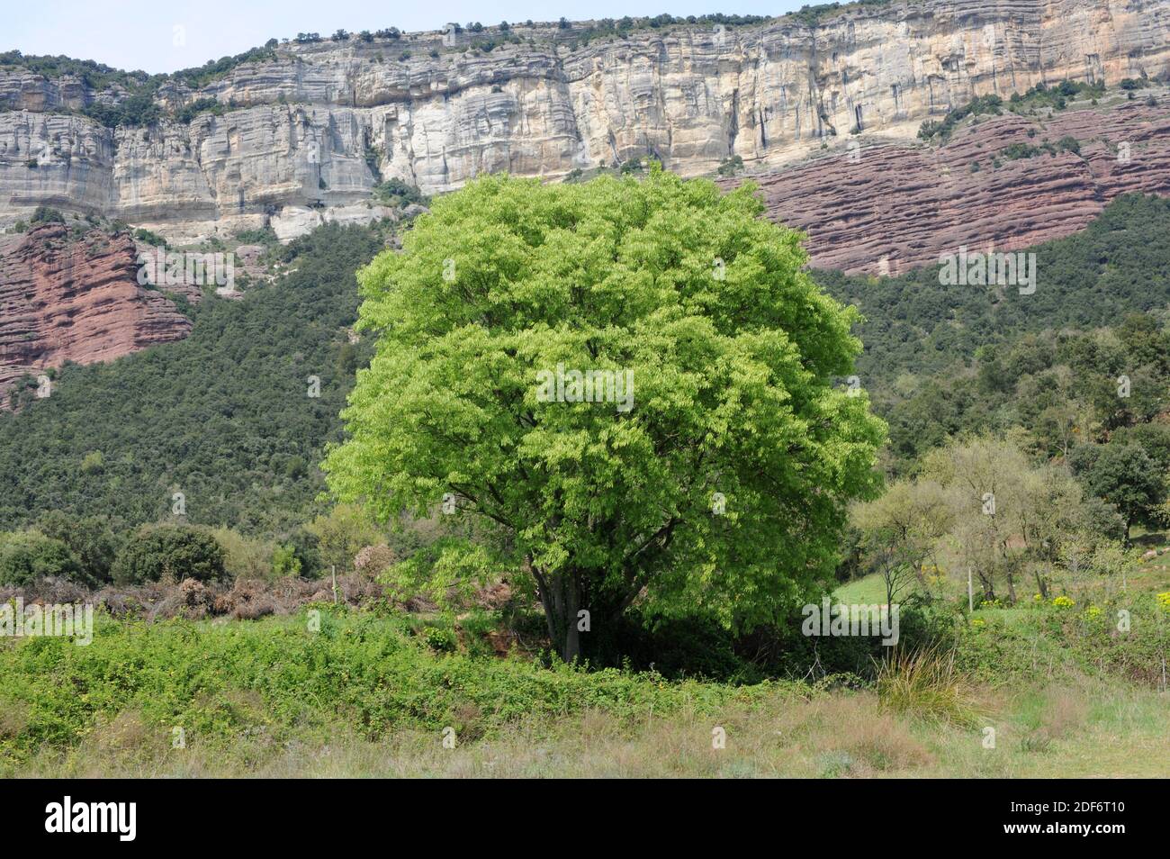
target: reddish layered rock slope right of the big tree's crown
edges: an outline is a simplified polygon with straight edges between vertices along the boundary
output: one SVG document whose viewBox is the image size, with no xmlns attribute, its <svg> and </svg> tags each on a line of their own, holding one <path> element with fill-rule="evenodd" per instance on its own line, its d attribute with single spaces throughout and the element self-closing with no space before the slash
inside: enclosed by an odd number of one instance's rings
<svg viewBox="0 0 1170 859">
<path fill-rule="evenodd" d="M 1082 229 L 1117 194 L 1170 194 L 1170 97 L 1145 98 L 982 117 L 942 146 L 858 143 L 756 181 L 821 268 L 899 274 L 964 245 L 1011 250 Z M 1078 151 L 1060 151 L 1067 138 Z M 1013 159 L 1013 145 L 1039 152 Z"/>
</svg>

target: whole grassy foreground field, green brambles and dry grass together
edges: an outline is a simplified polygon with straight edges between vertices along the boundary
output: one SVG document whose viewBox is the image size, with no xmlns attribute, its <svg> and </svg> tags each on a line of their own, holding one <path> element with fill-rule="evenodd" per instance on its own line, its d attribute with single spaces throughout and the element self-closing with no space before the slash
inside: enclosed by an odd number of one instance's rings
<svg viewBox="0 0 1170 859">
<path fill-rule="evenodd" d="M 1170 696 L 1078 661 L 1042 624 L 983 631 L 964 646 L 987 671 L 895 697 L 436 651 L 408 620 L 104 619 L 88 647 L 6 640 L 0 776 L 1170 775 Z M 991 642 L 1040 657 L 999 665 Z M 940 690 L 961 703 L 920 708 Z"/>
</svg>

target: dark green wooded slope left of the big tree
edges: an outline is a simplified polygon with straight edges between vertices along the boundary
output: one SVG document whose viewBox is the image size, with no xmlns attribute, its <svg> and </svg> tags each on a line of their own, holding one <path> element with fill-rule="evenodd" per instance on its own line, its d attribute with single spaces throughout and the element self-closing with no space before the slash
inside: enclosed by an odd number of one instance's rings
<svg viewBox="0 0 1170 859">
<path fill-rule="evenodd" d="M 0 412 L 0 528 L 51 509 L 124 527 L 170 513 L 181 489 L 193 523 L 283 538 L 311 518 L 326 441 L 365 363 L 350 344 L 353 270 L 381 232 L 328 225 L 277 248 L 297 270 L 241 300 L 205 298 L 181 342 L 110 364 L 66 365 L 53 396 Z M 307 396 L 309 376 L 321 397 Z M 83 470 L 98 449 L 103 466 Z M 300 462 L 300 467 L 296 463 Z"/>
</svg>

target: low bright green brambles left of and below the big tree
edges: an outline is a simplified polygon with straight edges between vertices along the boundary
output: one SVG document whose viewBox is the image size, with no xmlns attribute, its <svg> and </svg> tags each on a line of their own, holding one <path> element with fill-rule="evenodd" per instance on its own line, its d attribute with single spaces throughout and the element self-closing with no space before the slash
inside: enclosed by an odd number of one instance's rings
<svg viewBox="0 0 1170 859">
<path fill-rule="evenodd" d="M 62 638 L 2 647 L 0 701 L 19 701 L 27 719 L 0 734 L 0 761 L 44 745 L 73 748 L 128 709 L 166 736 L 181 724 L 214 745 L 255 727 L 277 737 L 294 728 L 336 736 L 343 722 L 374 738 L 406 729 L 438 735 L 452 726 L 466 737 L 534 716 L 707 714 L 777 690 L 808 692 L 803 683 L 668 683 L 614 668 L 549 669 L 523 659 L 436 653 L 428 642 L 449 642 L 449 632 L 414 635 L 402 614 L 321 611 L 319 632 L 307 630 L 303 614 L 226 627 L 98 616 L 89 647 Z"/>
</svg>

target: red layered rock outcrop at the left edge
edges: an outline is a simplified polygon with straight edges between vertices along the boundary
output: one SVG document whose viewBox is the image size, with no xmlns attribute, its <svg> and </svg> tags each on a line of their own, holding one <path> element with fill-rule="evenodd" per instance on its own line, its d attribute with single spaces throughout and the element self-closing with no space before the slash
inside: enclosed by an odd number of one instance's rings
<svg viewBox="0 0 1170 859">
<path fill-rule="evenodd" d="M 0 390 L 67 360 L 112 360 L 181 339 L 191 321 L 161 293 L 138 286 L 133 241 L 63 224 L 0 236 Z"/>
</svg>

